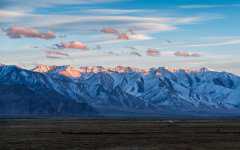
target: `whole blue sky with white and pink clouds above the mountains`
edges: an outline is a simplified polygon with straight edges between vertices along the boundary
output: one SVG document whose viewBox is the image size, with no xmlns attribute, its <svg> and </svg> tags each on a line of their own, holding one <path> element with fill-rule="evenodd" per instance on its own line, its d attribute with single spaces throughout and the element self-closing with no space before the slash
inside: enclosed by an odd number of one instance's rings
<svg viewBox="0 0 240 150">
<path fill-rule="evenodd" d="M 239 9 L 238 0 L 1 0 L 0 62 L 240 74 Z"/>
</svg>

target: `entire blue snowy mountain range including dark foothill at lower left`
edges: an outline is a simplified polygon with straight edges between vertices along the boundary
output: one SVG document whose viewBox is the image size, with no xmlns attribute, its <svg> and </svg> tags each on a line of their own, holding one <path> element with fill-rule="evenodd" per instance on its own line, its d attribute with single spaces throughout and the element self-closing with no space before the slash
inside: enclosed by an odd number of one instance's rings
<svg viewBox="0 0 240 150">
<path fill-rule="evenodd" d="M 200 113 L 201 112 L 201 113 Z M 0 65 L 2 115 L 202 115 L 240 112 L 240 77 L 199 70 Z"/>
</svg>

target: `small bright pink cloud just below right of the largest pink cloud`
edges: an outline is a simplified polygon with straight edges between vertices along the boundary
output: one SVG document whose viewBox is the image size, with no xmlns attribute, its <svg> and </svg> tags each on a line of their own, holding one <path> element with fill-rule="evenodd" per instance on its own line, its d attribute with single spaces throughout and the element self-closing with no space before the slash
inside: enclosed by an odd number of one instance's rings
<svg viewBox="0 0 240 150">
<path fill-rule="evenodd" d="M 56 44 L 56 46 L 57 48 L 63 48 L 63 49 L 81 49 L 81 50 L 88 49 L 87 45 L 79 41 L 60 43 L 60 44 Z"/>
</svg>

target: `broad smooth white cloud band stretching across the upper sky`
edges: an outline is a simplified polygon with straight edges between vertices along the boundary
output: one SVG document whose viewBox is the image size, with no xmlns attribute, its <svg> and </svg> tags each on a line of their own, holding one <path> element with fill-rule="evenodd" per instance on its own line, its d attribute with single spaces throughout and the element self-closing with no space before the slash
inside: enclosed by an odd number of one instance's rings
<svg viewBox="0 0 240 150">
<path fill-rule="evenodd" d="M 50 10 L 51 11 L 51 10 Z M 129 10 L 131 11 L 131 9 Z M 64 11 L 63 11 L 64 12 Z M 172 16 L 161 17 L 156 14 L 153 17 L 140 15 L 111 15 L 111 14 L 81 14 L 73 11 L 71 14 L 34 14 L 30 13 L 19 16 L 13 20 L 2 20 L 6 24 L 17 24 L 20 26 L 30 26 L 35 28 L 48 28 L 54 31 L 69 33 L 93 32 L 93 29 L 102 28 L 100 32 L 116 35 L 118 40 L 149 40 L 151 35 L 158 32 L 168 32 L 177 30 L 180 25 L 197 23 L 205 20 L 216 19 L 219 16 Z M 155 12 L 154 12 L 155 13 Z M 211 17 L 210 17 L 211 16 Z M 42 21 L 44 20 L 44 21 Z M 5 21 L 5 22 L 4 22 Z M 124 30 L 134 29 L 138 34 L 130 34 Z M 117 34 L 119 32 L 119 34 Z M 121 33 L 121 34 L 120 34 Z M 127 36 L 126 34 L 127 33 Z"/>
</svg>

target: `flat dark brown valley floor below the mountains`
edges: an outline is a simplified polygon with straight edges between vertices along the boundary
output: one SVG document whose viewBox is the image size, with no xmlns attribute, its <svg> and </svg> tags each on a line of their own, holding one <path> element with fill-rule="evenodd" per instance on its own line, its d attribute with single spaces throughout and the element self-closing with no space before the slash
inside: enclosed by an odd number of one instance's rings
<svg viewBox="0 0 240 150">
<path fill-rule="evenodd" d="M 240 150 L 239 120 L 0 119 L 0 150 Z"/>
</svg>

